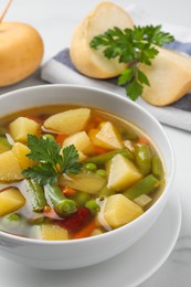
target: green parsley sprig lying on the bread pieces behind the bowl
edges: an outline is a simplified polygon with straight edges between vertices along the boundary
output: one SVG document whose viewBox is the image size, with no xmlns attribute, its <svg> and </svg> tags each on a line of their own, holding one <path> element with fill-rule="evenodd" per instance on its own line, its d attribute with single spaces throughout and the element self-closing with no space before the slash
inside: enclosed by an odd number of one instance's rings
<svg viewBox="0 0 191 287">
<path fill-rule="evenodd" d="M 128 67 L 118 77 L 118 85 L 124 85 L 126 94 L 132 100 L 142 94 L 144 85 L 150 85 L 139 63 L 151 65 L 151 61 L 159 53 L 157 46 L 173 42 L 170 33 L 161 31 L 161 25 L 134 26 L 120 30 L 115 26 L 104 34 L 96 35 L 91 41 L 91 47 L 103 50 L 107 59 L 118 57 L 119 63 L 127 63 Z"/>
</svg>

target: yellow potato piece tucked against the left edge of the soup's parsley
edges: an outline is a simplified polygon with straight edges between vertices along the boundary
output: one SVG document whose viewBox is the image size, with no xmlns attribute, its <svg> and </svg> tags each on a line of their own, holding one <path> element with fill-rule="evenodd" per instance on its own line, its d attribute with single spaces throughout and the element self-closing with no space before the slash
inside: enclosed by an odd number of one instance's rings
<svg viewBox="0 0 191 287">
<path fill-rule="evenodd" d="M 14 157 L 17 158 L 22 170 L 35 164 L 33 160 L 26 157 L 26 155 L 30 153 L 30 151 L 31 150 L 21 142 L 15 142 L 12 147 L 12 152 L 14 153 Z"/>
</svg>

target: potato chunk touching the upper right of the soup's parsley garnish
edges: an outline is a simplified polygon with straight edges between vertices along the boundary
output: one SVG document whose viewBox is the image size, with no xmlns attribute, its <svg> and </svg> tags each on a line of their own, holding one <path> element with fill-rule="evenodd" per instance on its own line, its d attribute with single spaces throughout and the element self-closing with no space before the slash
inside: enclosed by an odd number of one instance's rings
<svg viewBox="0 0 191 287">
<path fill-rule="evenodd" d="M 93 144 L 85 131 L 78 131 L 66 138 L 63 142 L 63 148 L 70 145 L 74 145 L 83 153 L 88 155 L 93 152 Z"/>
</svg>

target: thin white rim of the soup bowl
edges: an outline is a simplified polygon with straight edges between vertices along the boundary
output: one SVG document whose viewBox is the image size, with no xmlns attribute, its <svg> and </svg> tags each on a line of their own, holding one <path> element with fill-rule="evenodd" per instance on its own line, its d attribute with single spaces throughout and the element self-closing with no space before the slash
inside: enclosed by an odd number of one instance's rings
<svg viewBox="0 0 191 287">
<path fill-rule="evenodd" d="M 152 116 L 148 110 L 146 110 L 144 107 L 141 107 L 140 105 L 138 105 L 137 103 L 130 100 L 127 97 L 123 97 L 120 95 L 118 95 L 117 93 L 110 92 L 110 91 L 106 91 L 103 88 L 97 88 L 97 87 L 91 87 L 91 86 L 86 86 L 86 85 L 78 85 L 78 84 L 45 84 L 45 85 L 36 85 L 36 86 L 30 86 L 30 87 L 23 87 L 23 88 L 19 88 L 15 91 L 11 91 L 8 92 L 3 95 L 0 96 L 0 102 L 4 98 L 9 98 L 14 96 L 15 94 L 20 94 L 20 93 L 25 93 L 28 91 L 36 91 L 36 89 L 49 89 L 49 88 L 72 88 L 72 89 L 86 89 L 86 91 L 94 91 L 97 93 L 104 93 L 107 94 L 108 96 L 113 97 L 113 98 L 117 98 L 124 103 L 128 103 L 128 105 L 134 106 L 135 108 L 139 109 L 142 111 L 142 114 L 146 115 L 146 117 L 150 118 L 155 125 L 157 126 L 157 128 L 160 130 L 160 132 L 163 134 L 163 137 L 166 139 L 166 142 L 168 145 L 169 148 L 169 156 L 170 156 L 170 160 L 171 160 L 171 170 L 168 177 L 168 182 L 165 187 L 165 191 L 162 192 L 162 194 L 157 199 L 157 201 L 153 203 L 153 205 L 151 205 L 145 213 L 142 213 L 139 217 L 135 219 L 134 221 L 129 222 L 128 224 L 125 224 L 118 228 L 112 230 L 109 232 L 106 232 L 104 234 L 99 234 L 97 236 L 91 236 L 91 237 L 85 237 L 85 238 L 76 238 L 76 240 L 68 240 L 68 241 L 44 241 L 44 240 L 36 240 L 36 238 L 30 238 L 30 237 L 22 237 L 19 235 L 14 235 L 11 233 L 7 233 L 3 231 L 0 231 L 0 240 L 3 243 L 7 243 L 6 241 L 9 242 L 13 242 L 13 243 L 24 243 L 25 245 L 73 245 L 73 244 L 84 244 L 86 242 L 94 242 L 94 241 L 102 241 L 104 238 L 107 240 L 107 237 L 113 236 L 113 234 L 115 235 L 116 233 L 120 233 L 123 232 L 125 228 L 130 228 L 131 225 L 138 224 L 140 221 L 142 221 L 142 219 L 150 216 L 150 213 L 152 213 L 152 210 L 157 209 L 158 205 L 160 205 L 160 202 L 163 201 L 163 198 L 167 196 L 165 194 L 167 194 L 166 190 L 170 190 L 170 187 L 172 184 L 172 179 L 174 177 L 174 171 L 176 171 L 176 158 L 174 158 L 174 151 L 171 145 L 171 141 L 169 139 L 169 137 L 167 136 L 167 132 L 165 131 L 162 125 L 155 118 L 155 116 Z M 125 104 L 126 105 L 126 104 Z M 11 114 L 11 113 L 10 113 Z M 9 114 L 8 114 L 9 115 Z M 141 128 L 141 127 L 140 127 Z M 146 131 L 147 132 L 147 131 Z M 169 193 L 169 192 L 168 192 Z M 3 245 L 2 243 L 2 245 Z M 1 246 L 1 243 L 0 243 Z"/>
</svg>

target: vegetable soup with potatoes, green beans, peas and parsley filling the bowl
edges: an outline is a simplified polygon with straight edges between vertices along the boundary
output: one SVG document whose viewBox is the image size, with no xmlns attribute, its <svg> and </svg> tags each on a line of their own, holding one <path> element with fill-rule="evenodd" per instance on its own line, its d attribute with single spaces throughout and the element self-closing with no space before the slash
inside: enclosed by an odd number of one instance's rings
<svg viewBox="0 0 191 287">
<path fill-rule="evenodd" d="M 136 220 L 163 190 L 156 146 L 115 115 L 45 106 L 0 123 L 3 232 L 45 241 L 99 235 Z"/>
</svg>

